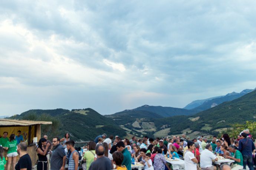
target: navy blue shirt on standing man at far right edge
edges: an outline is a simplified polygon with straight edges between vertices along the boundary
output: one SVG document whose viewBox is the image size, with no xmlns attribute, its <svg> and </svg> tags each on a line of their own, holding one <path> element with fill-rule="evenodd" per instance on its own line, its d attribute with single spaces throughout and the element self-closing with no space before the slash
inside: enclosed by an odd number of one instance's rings
<svg viewBox="0 0 256 170">
<path fill-rule="evenodd" d="M 252 156 L 252 152 L 254 149 L 255 149 L 255 145 L 252 139 L 243 138 L 239 140 L 238 150 L 242 153 L 242 155 Z"/>
</svg>

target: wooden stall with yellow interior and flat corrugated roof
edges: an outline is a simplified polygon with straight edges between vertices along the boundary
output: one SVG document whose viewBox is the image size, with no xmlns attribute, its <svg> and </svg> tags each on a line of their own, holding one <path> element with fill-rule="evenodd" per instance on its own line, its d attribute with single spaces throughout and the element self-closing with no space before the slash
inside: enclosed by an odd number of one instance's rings
<svg viewBox="0 0 256 170">
<path fill-rule="evenodd" d="M 11 134 L 17 135 L 20 130 L 23 135 L 24 142 L 27 142 L 27 153 L 32 160 L 32 166 L 36 164 L 36 142 L 41 138 L 41 125 L 50 125 L 52 122 L 32 121 L 32 120 L 16 120 L 16 119 L 0 119 L 0 135 L 3 132 L 8 132 L 9 137 Z M 33 141 L 36 140 L 36 141 Z M 6 152 L 4 153 L 6 156 Z"/>
</svg>

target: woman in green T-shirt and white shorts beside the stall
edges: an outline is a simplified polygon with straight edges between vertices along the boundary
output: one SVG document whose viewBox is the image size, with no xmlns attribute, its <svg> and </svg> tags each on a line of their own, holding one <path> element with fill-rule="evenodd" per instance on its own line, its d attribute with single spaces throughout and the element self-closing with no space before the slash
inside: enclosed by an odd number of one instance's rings
<svg viewBox="0 0 256 170">
<path fill-rule="evenodd" d="M 6 147 L 4 148 L 7 151 L 8 157 L 8 165 L 7 170 L 11 169 L 11 165 L 13 165 L 13 169 L 15 169 L 15 165 L 17 163 L 17 140 L 14 139 L 15 135 L 12 134 L 9 138 L 9 141 L 6 142 Z"/>
</svg>

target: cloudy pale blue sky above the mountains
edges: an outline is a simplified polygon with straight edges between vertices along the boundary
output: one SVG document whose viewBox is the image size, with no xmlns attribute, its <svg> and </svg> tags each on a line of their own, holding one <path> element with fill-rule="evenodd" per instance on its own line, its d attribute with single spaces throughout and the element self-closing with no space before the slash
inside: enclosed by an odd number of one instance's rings
<svg viewBox="0 0 256 170">
<path fill-rule="evenodd" d="M 111 114 L 256 87 L 256 1 L 1 1 L 0 115 Z"/>
</svg>

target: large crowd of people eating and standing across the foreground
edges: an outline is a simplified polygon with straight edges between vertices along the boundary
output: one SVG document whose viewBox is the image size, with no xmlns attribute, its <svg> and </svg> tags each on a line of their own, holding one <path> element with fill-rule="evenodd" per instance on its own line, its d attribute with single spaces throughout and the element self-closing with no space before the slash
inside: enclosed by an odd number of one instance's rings
<svg viewBox="0 0 256 170">
<path fill-rule="evenodd" d="M 7 150 L 7 170 L 32 169 L 31 159 L 27 154 L 27 144 L 23 142 L 22 135 L 17 136 L 4 132 L 0 138 L 0 170 L 6 167 L 3 150 Z M 219 139 L 213 136 L 198 136 L 190 139 L 185 135 L 137 139 L 121 139 L 119 136 L 106 134 L 97 136 L 81 148 L 75 147 L 75 142 L 70 139 L 69 133 L 60 139 L 54 137 L 52 142 L 46 135 L 39 140 L 36 147 L 38 156 L 37 170 L 131 170 L 132 164 L 137 162 L 144 166 L 144 170 L 171 170 L 166 156 L 171 159 L 183 159 L 185 170 L 214 170 L 221 157 L 234 160 L 232 166 L 220 166 L 221 169 L 253 170 L 256 163 L 255 146 L 249 130 L 241 132 L 237 139 L 223 134 Z M 2 147 L 3 146 L 3 147 Z M 17 155 L 19 160 L 17 162 Z M 51 155 L 51 156 L 49 156 Z"/>
</svg>

